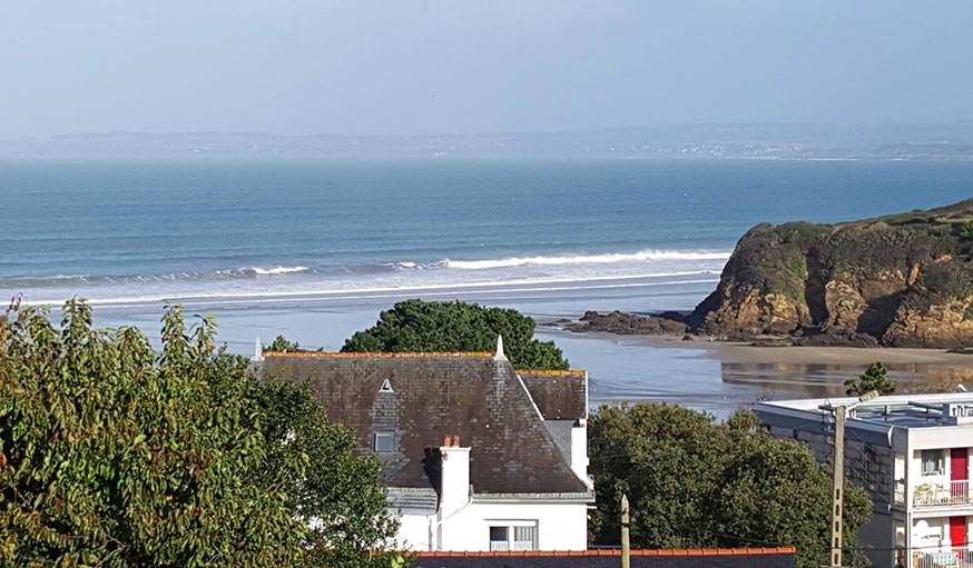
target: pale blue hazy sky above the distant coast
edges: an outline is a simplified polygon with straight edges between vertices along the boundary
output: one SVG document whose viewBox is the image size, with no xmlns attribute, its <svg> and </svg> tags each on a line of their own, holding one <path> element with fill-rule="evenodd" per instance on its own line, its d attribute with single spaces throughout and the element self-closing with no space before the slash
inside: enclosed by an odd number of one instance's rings
<svg viewBox="0 0 973 568">
<path fill-rule="evenodd" d="M 0 0 L 0 138 L 955 120 L 970 0 Z"/>
</svg>

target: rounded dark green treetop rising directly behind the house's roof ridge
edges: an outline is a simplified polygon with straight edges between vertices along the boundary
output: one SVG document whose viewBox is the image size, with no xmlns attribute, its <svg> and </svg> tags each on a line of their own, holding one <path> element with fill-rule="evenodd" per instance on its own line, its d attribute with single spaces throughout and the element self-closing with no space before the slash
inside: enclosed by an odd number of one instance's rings
<svg viewBox="0 0 973 568">
<path fill-rule="evenodd" d="M 567 369 L 553 341 L 533 339 L 535 328 L 532 318 L 512 309 L 405 300 L 383 311 L 375 326 L 353 335 L 342 351 L 492 351 L 500 335 L 514 367 Z"/>
</svg>

